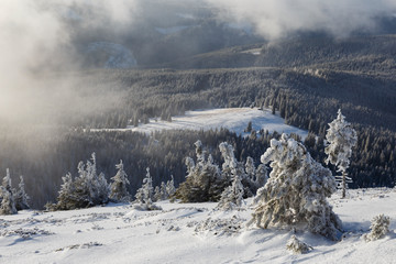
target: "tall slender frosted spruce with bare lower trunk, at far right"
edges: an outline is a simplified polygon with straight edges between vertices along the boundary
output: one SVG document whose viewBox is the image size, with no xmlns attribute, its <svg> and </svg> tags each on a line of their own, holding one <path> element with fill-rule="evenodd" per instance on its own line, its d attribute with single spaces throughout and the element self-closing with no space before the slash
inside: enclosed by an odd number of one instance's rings
<svg viewBox="0 0 396 264">
<path fill-rule="evenodd" d="M 346 169 L 350 165 L 352 147 L 358 142 L 356 131 L 345 121 L 345 117 L 342 116 L 341 109 L 338 110 L 337 119 L 329 123 L 329 127 L 326 134 L 326 140 L 328 142 L 324 148 L 324 153 L 328 155 L 326 163 L 336 165 L 338 172 L 342 173 L 340 182 L 342 198 L 345 198 L 348 183 L 351 183 L 352 180 L 348 177 Z"/>
</svg>

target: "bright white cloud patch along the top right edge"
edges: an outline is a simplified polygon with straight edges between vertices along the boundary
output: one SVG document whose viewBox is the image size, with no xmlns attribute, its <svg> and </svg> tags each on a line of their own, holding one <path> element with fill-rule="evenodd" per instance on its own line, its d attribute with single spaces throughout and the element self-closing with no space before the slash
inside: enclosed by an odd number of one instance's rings
<svg viewBox="0 0 396 264">
<path fill-rule="evenodd" d="M 295 32 L 326 32 L 345 37 L 375 32 L 377 20 L 393 15 L 393 0 L 206 0 L 219 9 L 218 18 L 251 23 L 256 34 L 268 40 L 287 37 Z"/>
</svg>

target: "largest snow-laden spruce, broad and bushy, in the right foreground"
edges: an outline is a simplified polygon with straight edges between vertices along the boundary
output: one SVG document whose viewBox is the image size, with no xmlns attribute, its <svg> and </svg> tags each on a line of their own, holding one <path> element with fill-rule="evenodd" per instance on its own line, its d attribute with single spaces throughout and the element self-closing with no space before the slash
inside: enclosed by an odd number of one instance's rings
<svg viewBox="0 0 396 264">
<path fill-rule="evenodd" d="M 341 221 L 327 201 L 337 189 L 331 172 L 315 162 L 306 147 L 283 134 L 271 140 L 261 157 L 273 168 L 266 185 L 254 199 L 249 224 L 261 228 L 300 227 L 332 240 L 339 238 Z"/>
</svg>

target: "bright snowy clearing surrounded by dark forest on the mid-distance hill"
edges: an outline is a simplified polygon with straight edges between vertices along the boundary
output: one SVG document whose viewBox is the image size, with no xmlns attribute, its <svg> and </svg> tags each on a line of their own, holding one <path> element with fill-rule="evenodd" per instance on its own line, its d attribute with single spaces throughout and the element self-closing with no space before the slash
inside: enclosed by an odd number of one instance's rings
<svg viewBox="0 0 396 264">
<path fill-rule="evenodd" d="M 140 124 L 138 128 L 128 129 L 151 133 L 162 130 L 211 130 L 226 128 L 238 134 L 243 134 L 248 123 L 252 121 L 255 131 L 261 129 L 270 132 L 296 133 L 305 139 L 307 131 L 285 124 L 285 120 L 279 116 L 272 114 L 270 110 L 258 110 L 256 108 L 220 108 L 211 110 L 187 111 L 185 116 L 172 117 L 172 122 L 160 119 L 151 119 L 147 124 Z"/>
</svg>

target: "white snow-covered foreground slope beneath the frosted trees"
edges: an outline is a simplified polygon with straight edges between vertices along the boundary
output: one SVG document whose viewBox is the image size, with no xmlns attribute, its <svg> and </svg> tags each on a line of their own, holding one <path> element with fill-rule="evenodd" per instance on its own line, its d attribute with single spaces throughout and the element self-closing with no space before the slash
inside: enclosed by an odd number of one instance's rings
<svg viewBox="0 0 396 264">
<path fill-rule="evenodd" d="M 396 191 L 350 190 L 331 204 L 345 229 L 339 242 L 305 231 L 314 248 L 293 255 L 287 230 L 246 229 L 251 208 L 213 211 L 216 204 L 158 202 L 161 211 L 109 205 L 74 211 L 0 216 L 0 263 L 395 263 Z M 249 205 L 251 200 L 246 200 Z M 365 242 L 374 216 L 391 217 L 391 233 Z"/>
</svg>

